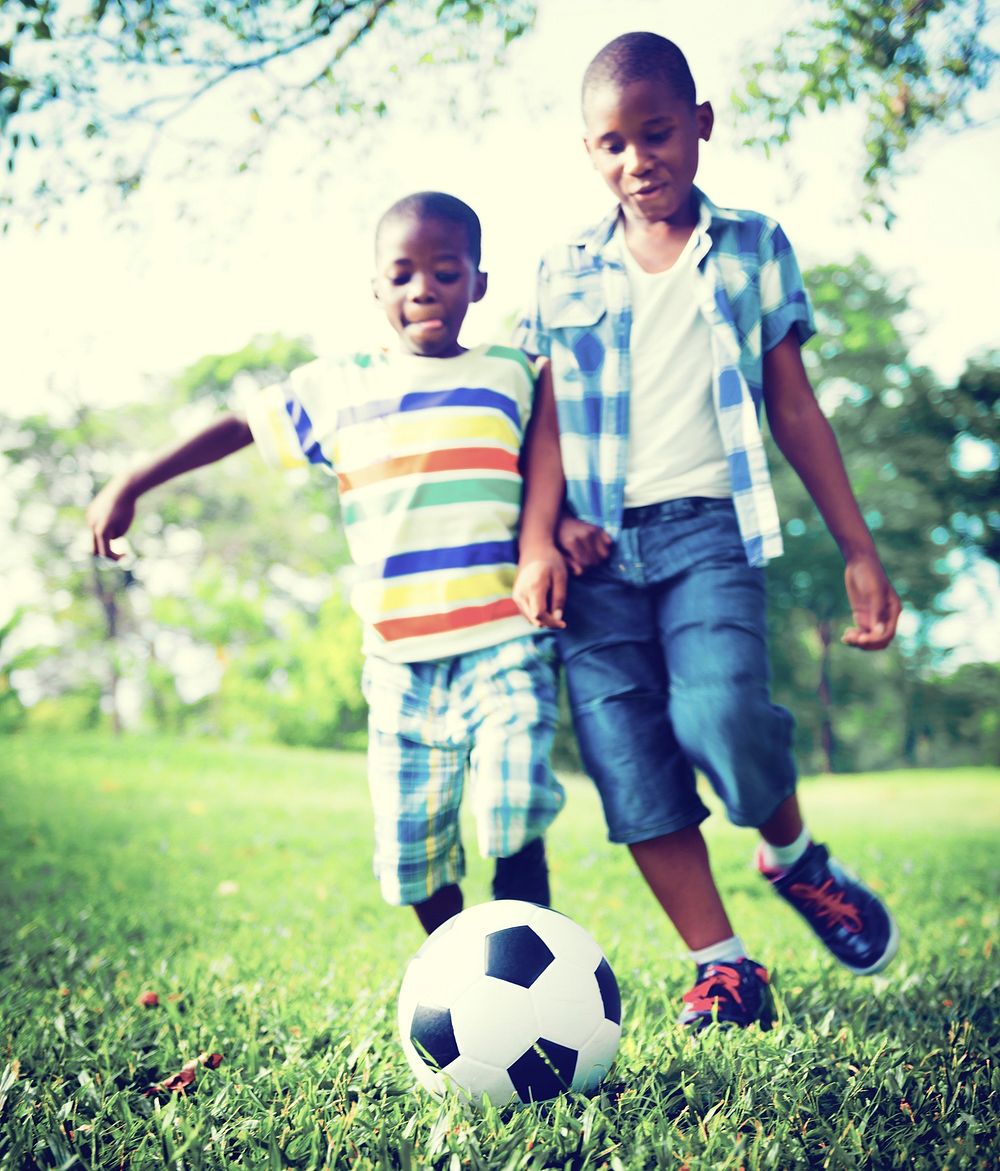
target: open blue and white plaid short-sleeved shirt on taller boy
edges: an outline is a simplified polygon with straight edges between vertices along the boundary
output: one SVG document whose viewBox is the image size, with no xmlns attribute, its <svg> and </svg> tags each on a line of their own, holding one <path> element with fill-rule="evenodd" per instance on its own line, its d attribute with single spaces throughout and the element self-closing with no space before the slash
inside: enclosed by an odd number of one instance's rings
<svg viewBox="0 0 1000 1171">
<path fill-rule="evenodd" d="M 795 328 L 815 333 L 802 275 L 779 225 L 717 207 L 696 189 L 701 313 L 712 333 L 713 400 L 747 561 L 781 553 L 781 526 L 760 431 L 763 354 Z M 612 242 L 618 208 L 539 266 L 536 299 L 515 344 L 552 359 L 567 501 L 612 537 L 622 528 L 629 444 L 632 308 Z M 684 441 L 683 436 L 677 437 Z"/>
</svg>

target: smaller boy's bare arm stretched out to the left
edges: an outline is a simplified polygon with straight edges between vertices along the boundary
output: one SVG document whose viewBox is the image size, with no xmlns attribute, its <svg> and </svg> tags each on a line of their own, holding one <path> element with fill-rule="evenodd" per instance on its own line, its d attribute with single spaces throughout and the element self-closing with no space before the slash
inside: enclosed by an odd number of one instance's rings
<svg viewBox="0 0 1000 1171">
<path fill-rule="evenodd" d="M 111 548 L 111 541 L 124 536 L 129 530 L 136 515 L 136 501 L 143 493 L 196 467 L 214 464 L 251 443 L 253 436 L 246 420 L 238 415 L 225 415 L 183 443 L 116 475 L 104 485 L 87 509 L 94 553 L 112 561 L 121 557 Z"/>
</svg>

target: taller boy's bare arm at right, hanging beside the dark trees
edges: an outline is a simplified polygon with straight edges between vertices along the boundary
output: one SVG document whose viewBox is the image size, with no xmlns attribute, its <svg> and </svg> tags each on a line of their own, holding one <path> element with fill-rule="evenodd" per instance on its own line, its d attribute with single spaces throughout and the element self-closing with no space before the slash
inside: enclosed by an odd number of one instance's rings
<svg viewBox="0 0 1000 1171">
<path fill-rule="evenodd" d="M 820 509 L 844 559 L 854 625 L 843 642 L 882 650 L 902 609 L 851 491 L 833 427 L 820 410 L 793 333 L 763 356 L 763 399 L 770 433 Z"/>
</svg>

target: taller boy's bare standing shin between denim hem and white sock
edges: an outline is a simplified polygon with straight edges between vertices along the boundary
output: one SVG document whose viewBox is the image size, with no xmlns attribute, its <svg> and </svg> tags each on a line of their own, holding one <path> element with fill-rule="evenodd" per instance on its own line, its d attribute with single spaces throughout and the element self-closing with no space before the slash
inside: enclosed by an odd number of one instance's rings
<svg viewBox="0 0 1000 1171">
<path fill-rule="evenodd" d="M 690 951 L 711 947 L 733 936 L 698 826 L 632 842 L 629 849 Z"/>
</svg>

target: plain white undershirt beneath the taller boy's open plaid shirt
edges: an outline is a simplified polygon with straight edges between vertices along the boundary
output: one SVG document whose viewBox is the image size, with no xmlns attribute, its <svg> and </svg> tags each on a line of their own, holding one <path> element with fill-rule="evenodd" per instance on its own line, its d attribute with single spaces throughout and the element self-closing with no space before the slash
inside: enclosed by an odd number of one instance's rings
<svg viewBox="0 0 1000 1171">
<path fill-rule="evenodd" d="M 632 300 L 625 507 L 728 497 L 730 468 L 712 402 L 712 335 L 698 309 L 697 230 L 663 273 L 648 273 L 616 230 Z"/>
</svg>

